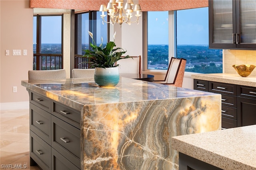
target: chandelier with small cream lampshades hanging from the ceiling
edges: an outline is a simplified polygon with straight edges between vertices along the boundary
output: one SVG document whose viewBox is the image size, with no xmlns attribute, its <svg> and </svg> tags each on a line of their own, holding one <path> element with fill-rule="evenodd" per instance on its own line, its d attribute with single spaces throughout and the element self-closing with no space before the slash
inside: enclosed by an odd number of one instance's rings
<svg viewBox="0 0 256 170">
<path fill-rule="evenodd" d="M 123 22 L 128 23 L 128 25 L 131 25 L 131 23 L 135 23 L 135 22 L 137 22 L 138 24 L 139 17 L 141 16 L 139 12 L 142 11 L 140 8 L 140 4 L 135 4 L 133 9 L 132 5 L 134 4 L 132 0 L 127 0 L 124 8 L 123 8 L 123 3 L 124 3 L 124 0 L 110 0 L 108 2 L 107 7 L 105 5 L 100 5 L 100 11 L 102 12 L 102 15 L 100 15 L 100 17 L 102 18 L 102 24 L 104 24 L 104 22 L 111 23 L 112 25 L 114 25 L 114 23 L 119 23 L 120 27 Z M 116 6 L 116 4 L 118 4 L 118 6 Z M 104 17 L 106 16 L 104 15 L 104 12 L 107 12 L 107 11 L 108 11 L 108 15 L 110 16 L 109 22 L 104 20 Z M 135 14 L 135 16 L 137 17 L 136 21 L 131 21 L 133 11 L 137 12 Z M 123 13 L 126 14 L 126 16 L 122 16 Z"/>
</svg>

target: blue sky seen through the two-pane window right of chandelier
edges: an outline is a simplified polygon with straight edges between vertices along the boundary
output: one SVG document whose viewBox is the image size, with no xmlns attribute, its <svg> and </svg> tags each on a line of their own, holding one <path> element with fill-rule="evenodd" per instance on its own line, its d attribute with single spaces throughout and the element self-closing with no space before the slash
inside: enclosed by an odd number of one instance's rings
<svg viewBox="0 0 256 170">
<path fill-rule="evenodd" d="M 148 18 L 148 44 L 168 44 L 168 12 Z M 177 11 L 177 45 L 208 45 L 208 27 L 208 7 Z"/>
</svg>

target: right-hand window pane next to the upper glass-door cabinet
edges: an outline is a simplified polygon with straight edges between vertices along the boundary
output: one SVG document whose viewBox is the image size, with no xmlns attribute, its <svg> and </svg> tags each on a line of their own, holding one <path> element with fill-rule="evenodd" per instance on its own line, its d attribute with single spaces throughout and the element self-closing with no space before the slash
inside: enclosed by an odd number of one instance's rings
<svg viewBox="0 0 256 170">
<path fill-rule="evenodd" d="M 222 50 L 209 49 L 208 7 L 176 12 L 176 57 L 188 72 L 222 72 Z"/>
</svg>

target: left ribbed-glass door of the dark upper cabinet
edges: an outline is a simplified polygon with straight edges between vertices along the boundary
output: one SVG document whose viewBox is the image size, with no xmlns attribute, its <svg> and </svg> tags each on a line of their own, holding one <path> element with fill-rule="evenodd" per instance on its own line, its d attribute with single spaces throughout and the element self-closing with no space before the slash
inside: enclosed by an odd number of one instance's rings
<svg viewBox="0 0 256 170">
<path fill-rule="evenodd" d="M 209 47 L 236 47 L 235 9 L 234 0 L 209 0 Z"/>
</svg>

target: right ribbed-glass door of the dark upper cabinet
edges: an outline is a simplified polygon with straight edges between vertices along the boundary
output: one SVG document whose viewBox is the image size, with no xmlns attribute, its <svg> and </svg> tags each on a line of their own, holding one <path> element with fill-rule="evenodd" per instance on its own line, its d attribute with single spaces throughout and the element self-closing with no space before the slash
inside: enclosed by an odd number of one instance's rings
<svg viewBox="0 0 256 170">
<path fill-rule="evenodd" d="M 256 1 L 240 0 L 236 2 L 236 32 L 239 42 L 236 47 L 256 48 Z"/>
</svg>

